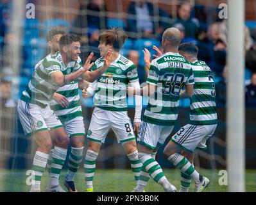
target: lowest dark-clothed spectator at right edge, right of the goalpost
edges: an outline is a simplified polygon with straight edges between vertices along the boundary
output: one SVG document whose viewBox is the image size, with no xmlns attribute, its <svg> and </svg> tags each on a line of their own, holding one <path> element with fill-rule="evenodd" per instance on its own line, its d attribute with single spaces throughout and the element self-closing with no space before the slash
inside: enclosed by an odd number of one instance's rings
<svg viewBox="0 0 256 205">
<path fill-rule="evenodd" d="M 245 88 L 246 107 L 256 107 L 256 72 L 252 72 L 250 85 Z"/>
</svg>

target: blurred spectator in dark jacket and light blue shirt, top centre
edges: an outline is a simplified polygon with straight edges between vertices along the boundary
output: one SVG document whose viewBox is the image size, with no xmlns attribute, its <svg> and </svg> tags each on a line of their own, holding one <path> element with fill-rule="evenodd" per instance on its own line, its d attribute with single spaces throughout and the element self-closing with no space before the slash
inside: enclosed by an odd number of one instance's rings
<svg viewBox="0 0 256 205">
<path fill-rule="evenodd" d="M 135 33 L 131 34 L 131 37 L 139 34 L 139 37 L 151 38 L 154 37 L 153 34 L 161 35 L 170 26 L 169 23 L 164 22 L 164 19 L 161 20 L 163 17 L 170 18 L 170 16 L 160 8 L 157 10 L 157 13 L 154 13 L 156 11 L 154 5 L 143 0 L 132 1 L 129 4 L 126 30 Z M 160 16 L 159 22 L 153 20 L 156 15 Z"/>
</svg>

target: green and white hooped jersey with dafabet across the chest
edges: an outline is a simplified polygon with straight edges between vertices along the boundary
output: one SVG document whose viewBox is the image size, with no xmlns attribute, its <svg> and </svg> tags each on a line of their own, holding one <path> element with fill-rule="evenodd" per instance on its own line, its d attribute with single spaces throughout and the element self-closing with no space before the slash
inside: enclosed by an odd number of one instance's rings
<svg viewBox="0 0 256 205">
<path fill-rule="evenodd" d="M 102 67 L 104 59 L 95 61 L 92 70 Z M 103 110 L 126 111 L 126 87 L 128 83 L 139 81 L 134 63 L 124 56 L 119 56 L 97 80 L 94 106 Z"/>
</svg>

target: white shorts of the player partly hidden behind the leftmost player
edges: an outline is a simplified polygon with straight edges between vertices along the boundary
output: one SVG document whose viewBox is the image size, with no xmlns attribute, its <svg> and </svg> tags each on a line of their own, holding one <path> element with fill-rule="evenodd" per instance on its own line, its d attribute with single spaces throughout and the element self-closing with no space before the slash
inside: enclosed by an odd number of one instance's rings
<svg viewBox="0 0 256 205">
<path fill-rule="evenodd" d="M 83 117 L 79 116 L 71 120 L 62 122 L 65 131 L 69 137 L 71 136 L 85 136 L 85 124 Z"/>
</svg>

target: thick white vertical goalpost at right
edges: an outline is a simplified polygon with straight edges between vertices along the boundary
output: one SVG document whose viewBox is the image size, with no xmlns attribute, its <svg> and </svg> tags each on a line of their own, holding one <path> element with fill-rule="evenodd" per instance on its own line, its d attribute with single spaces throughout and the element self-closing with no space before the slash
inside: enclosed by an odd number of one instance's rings
<svg viewBox="0 0 256 205">
<path fill-rule="evenodd" d="M 228 0 L 228 192 L 244 192 L 244 0 Z"/>
</svg>

